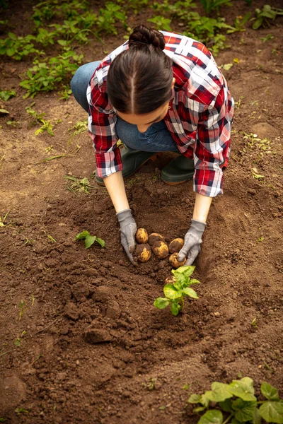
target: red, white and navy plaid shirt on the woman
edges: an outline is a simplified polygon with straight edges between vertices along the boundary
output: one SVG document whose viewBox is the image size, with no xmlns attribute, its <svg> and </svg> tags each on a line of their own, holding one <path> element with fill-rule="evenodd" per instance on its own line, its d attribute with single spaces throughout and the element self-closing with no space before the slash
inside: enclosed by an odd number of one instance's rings
<svg viewBox="0 0 283 424">
<path fill-rule="evenodd" d="M 194 191 L 205 196 L 223 194 L 223 167 L 230 153 L 233 98 L 212 54 L 201 42 L 162 31 L 163 50 L 173 60 L 175 86 L 164 121 L 180 153 L 195 163 Z M 87 90 L 88 130 L 96 151 L 98 177 L 122 170 L 117 148 L 117 114 L 106 93 L 109 66 L 128 48 L 110 53 L 93 73 Z"/>
</svg>

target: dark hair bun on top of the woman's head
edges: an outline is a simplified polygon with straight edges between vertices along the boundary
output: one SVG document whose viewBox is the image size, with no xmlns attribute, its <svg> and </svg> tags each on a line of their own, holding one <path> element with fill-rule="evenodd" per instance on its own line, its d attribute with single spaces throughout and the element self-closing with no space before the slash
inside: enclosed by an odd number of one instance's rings
<svg viewBox="0 0 283 424">
<path fill-rule="evenodd" d="M 163 50 L 165 39 L 162 33 L 145 25 L 139 25 L 129 36 L 129 47 L 134 45 L 153 45 L 157 49 Z"/>
</svg>

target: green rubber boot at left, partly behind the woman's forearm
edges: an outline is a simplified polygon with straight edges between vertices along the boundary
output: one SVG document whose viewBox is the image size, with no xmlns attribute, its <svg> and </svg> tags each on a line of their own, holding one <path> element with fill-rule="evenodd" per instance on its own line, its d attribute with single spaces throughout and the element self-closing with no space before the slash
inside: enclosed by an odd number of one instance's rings
<svg viewBox="0 0 283 424">
<path fill-rule="evenodd" d="M 132 148 L 124 146 L 121 151 L 122 158 L 122 176 L 124 179 L 131 177 L 139 168 L 144 165 L 148 160 L 156 160 L 158 153 L 135 151 Z M 96 182 L 104 185 L 103 178 L 96 175 Z"/>
</svg>

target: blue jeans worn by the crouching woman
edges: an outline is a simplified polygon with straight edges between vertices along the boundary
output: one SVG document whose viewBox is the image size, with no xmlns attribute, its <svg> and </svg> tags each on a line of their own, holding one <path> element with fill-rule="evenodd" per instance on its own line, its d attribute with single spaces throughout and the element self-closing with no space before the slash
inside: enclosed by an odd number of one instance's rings
<svg viewBox="0 0 283 424">
<path fill-rule="evenodd" d="M 91 80 L 93 72 L 100 61 L 94 61 L 81 66 L 71 80 L 71 90 L 76 101 L 88 112 L 88 101 L 86 99 L 86 89 Z M 149 128 L 141 133 L 137 125 L 129 124 L 117 117 L 116 134 L 119 139 L 129 148 L 146 152 L 177 152 L 178 147 L 167 129 L 166 123 L 162 119 L 160 122 L 151 124 Z"/>
</svg>

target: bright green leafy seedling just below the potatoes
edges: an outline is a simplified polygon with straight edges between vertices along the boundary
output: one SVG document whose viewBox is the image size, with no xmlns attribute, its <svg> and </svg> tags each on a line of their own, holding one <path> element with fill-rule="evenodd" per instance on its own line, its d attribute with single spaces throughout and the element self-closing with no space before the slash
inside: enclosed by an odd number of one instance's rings
<svg viewBox="0 0 283 424">
<path fill-rule="evenodd" d="M 166 284 L 163 288 L 165 298 L 157 298 L 154 301 L 154 306 L 157 309 L 164 309 L 171 305 L 171 312 L 176 316 L 183 310 L 185 296 L 198 299 L 195 290 L 189 287 L 192 284 L 200 283 L 200 281 L 190 278 L 194 271 L 195 266 L 186 265 L 173 269 L 171 271 L 173 273 L 172 284 Z"/>
</svg>

